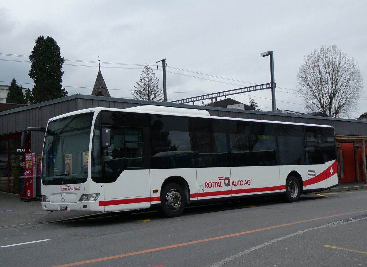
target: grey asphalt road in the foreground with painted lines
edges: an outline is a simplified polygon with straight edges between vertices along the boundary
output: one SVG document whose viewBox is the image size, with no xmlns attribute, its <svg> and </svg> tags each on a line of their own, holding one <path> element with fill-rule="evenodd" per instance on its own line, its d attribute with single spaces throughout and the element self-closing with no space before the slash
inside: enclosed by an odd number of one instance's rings
<svg viewBox="0 0 367 267">
<path fill-rule="evenodd" d="M 0 229 L 2 266 L 366 266 L 367 190 Z M 38 241 L 38 242 L 35 242 Z M 27 244 L 22 244 L 27 243 Z"/>
</svg>

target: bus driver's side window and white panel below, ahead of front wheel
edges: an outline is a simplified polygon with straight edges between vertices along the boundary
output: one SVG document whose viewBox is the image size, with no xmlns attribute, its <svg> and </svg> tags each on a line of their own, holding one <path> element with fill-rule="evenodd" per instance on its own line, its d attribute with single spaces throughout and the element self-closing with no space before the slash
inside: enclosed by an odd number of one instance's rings
<svg viewBox="0 0 367 267">
<path fill-rule="evenodd" d="M 105 200 L 111 203 L 105 211 L 150 206 L 149 169 L 143 155 L 143 128 L 111 127 L 111 146 L 102 159 Z"/>
</svg>

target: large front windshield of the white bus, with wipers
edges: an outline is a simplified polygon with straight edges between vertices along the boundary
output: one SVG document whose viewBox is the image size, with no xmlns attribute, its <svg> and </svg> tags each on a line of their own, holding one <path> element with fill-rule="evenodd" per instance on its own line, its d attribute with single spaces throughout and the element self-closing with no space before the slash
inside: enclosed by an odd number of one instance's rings
<svg viewBox="0 0 367 267">
<path fill-rule="evenodd" d="M 91 112 L 49 122 L 42 154 L 44 185 L 86 182 L 92 117 Z"/>
</svg>

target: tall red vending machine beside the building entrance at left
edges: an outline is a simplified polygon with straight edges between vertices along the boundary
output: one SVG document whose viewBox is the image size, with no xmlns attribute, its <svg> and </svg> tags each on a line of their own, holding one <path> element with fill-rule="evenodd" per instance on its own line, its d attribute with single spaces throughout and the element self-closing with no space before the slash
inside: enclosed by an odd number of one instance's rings
<svg viewBox="0 0 367 267">
<path fill-rule="evenodd" d="M 24 166 L 24 188 L 25 197 L 23 201 L 37 200 L 36 197 L 36 153 L 25 153 Z"/>
</svg>

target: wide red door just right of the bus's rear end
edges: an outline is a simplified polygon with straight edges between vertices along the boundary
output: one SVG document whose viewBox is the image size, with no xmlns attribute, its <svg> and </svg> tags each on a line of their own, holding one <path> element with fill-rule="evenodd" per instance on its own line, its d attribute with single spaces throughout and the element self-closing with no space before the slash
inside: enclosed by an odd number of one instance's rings
<svg viewBox="0 0 367 267">
<path fill-rule="evenodd" d="M 341 175 L 341 183 L 350 183 L 356 181 L 356 167 L 354 160 L 354 146 L 353 143 L 343 143 L 339 147 L 342 150 L 341 164 L 343 164 L 344 175 Z"/>
</svg>

